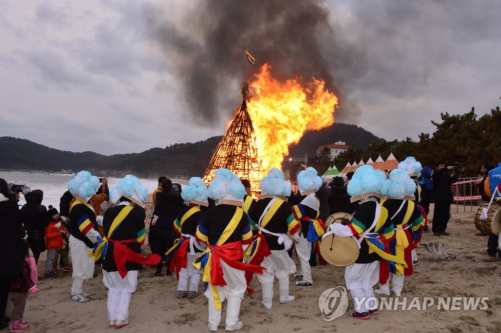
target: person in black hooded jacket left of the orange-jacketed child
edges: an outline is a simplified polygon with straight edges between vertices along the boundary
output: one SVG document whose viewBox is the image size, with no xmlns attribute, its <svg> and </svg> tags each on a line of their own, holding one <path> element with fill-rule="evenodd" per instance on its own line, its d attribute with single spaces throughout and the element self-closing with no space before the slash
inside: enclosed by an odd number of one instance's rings
<svg viewBox="0 0 501 333">
<path fill-rule="evenodd" d="M 49 224 L 50 217 L 47 213 L 47 208 L 42 205 L 44 200 L 44 192 L 42 190 L 33 190 L 37 202 L 36 215 L 30 219 L 24 220 L 26 233 L 28 234 L 28 244 L 33 252 L 33 257 L 38 263 L 40 253 L 45 251 L 45 227 Z M 25 204 L 21 210 L 27 209 L 28 204 Z"/>
</svg>

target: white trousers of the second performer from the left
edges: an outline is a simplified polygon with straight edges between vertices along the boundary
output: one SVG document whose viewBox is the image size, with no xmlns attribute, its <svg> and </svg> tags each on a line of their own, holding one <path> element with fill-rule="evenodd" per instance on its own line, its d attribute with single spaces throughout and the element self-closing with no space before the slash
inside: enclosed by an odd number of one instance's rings
<svg viewBox="0 0 501 333">
<path fill-rule="evenodd" d="M 103 283 L 108 288 L 108 319 L 127 320 L 132 293 L 137 288 L 139 271 L 129 271 L 122 279 L 118 272 L 103 269 Z"/>
</svg>

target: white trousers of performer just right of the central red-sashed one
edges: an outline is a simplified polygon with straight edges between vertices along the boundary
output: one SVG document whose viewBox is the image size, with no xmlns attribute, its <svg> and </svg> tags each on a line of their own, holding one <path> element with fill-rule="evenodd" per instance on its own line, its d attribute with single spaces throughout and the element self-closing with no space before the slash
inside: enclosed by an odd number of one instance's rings
<svg viewBox="0 0 501 333">
<path fill-rule="evenodd" d="M 273 305 L 273 281 L 275 276 L 279 280 L 280 297 L 289 296 L 289 275 L 296 272 L 296 264 L 289 253 L 284 250 L 271 250 L 272 254 L 265 257 L 261 263 L 263 274 L 256 274 L 263 290 L 263 303 L 267 307 Z"/>
</svg>

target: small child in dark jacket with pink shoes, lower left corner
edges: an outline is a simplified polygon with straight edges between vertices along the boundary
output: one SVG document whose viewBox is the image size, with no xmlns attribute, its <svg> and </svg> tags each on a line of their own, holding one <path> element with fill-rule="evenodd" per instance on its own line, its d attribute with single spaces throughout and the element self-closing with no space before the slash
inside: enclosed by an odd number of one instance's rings
<svg viewBox="0 0 501 333">
<path fill-rule="evenodd" d="M 28 244 L 22 245 L 28 252 Z M 37 285 L 31 279 L 31 267 L 25 260 L 23 272 L 16 276 L 9 288 L 9 301 L 13 303 L 10 328 L 11 332 L 20 332 L 30 328 L 30 325 L 23 320 L 23 313 L 26 307 L 28 294 L 38 292 Z"/>
</svg>

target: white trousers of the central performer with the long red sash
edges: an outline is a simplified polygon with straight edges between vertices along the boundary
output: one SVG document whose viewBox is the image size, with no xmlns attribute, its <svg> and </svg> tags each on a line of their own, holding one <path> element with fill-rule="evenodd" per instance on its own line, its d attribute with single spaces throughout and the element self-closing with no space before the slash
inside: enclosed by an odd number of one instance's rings
<svg viewBox="0 0 501 333">
<path fill-rule="evenodd" d="M 216 286 L 216 289 L 221 302 L 226 298 L 228 299 L 228 302 L 226 304 L 226 325 L 234 325 L 238 321 L 238 315 L 240 313 L 240 302 L 243 299 L 243 293 L 245 292 L 245 289 L 247 289 L 245 272 L 229 267 L 222 260 L 221 266 L 226 285 L 222 287 Z M 218 326 L 221 322 L 221 310 L 216 310 L 214 306 L 212 284 L 208 284 L 207 290 L 205 290 L 204 295 L 205 297 L 207 297 L 209 303 L 209 324 Z"/>
</svg>

